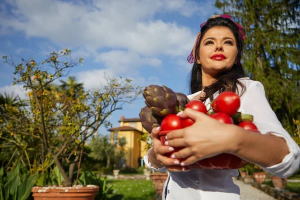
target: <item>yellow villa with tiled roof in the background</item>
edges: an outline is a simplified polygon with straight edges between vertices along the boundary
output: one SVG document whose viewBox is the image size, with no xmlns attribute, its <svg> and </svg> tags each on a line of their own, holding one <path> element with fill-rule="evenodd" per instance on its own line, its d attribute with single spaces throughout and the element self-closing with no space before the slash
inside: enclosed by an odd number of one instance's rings
<svg viewBox="0 0 300 200">
<path fill-rule="evenodd" d="M 139 118 L 125 118 L 121 116 L 119 127 L 108 129 L 110 131 L 110 142 L 115 143 L 118 138 L 125 137 L 125 158 L 118 160 L 119 166 L 128 166 L 138 168 L 143 166 L 143 156 L 146 154 L 146 141 L 138 141 L 138 138 L 145 132 L 148 133 L 142 126 Z"/>
</svg>

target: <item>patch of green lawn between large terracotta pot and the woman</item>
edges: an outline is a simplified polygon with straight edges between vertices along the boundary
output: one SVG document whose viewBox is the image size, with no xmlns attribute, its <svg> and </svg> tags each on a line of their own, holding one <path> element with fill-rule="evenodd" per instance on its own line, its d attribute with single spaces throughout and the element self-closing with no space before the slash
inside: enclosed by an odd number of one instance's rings
<svg viewBox="0 0 300 200">
<path fill-rule="evenodd" d="M 124 195 L 124 200 L 153 200 L 155 196 L 152 180 L 106 180 Z"/>
</svg>

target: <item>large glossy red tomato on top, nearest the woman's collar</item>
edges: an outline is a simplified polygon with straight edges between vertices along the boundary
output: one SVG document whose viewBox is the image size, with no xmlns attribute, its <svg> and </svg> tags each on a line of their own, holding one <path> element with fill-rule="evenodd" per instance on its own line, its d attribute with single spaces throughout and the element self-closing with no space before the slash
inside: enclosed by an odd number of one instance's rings
<svg viewBox="0 0 300 200">
<path fill-rule="evenodd" d="M 220 93 L 214 101 L 214 112 L 224 112 L 230 116 L 235 114 L 240 106 L 239 96 L 232 91 Z"/>
</svg>

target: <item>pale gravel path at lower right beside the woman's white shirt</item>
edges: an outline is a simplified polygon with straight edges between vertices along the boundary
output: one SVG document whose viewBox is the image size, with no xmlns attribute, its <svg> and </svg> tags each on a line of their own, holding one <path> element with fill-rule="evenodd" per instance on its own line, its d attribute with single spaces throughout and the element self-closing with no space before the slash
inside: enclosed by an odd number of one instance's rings
<svg viewBox="0 0 300 200">
<path fill-rule="evenodd" d="M 234 183 L 239 186 L 240 197 L 242 200 L 276 200 L 272 196 L 252 187 L 250 184 L 246 184 L 241 180 L 233 179 Z"/>
</svg>

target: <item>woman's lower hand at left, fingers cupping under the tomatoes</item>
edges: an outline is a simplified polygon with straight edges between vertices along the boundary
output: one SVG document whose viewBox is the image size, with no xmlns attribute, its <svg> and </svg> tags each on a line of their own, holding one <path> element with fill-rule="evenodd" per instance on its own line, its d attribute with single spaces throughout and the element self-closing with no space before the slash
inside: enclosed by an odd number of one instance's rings
<svg viewBox="0 0 300 200">
<path fill-rule="evenodd" d="M 173 147 L 162 145 L 161 141 L 159 139 L 158 133 L 159 133 L 160 127 L 153 128 L 151 131 L 151 138 L 152 138 L 152 151 L 149 152 L 149 161 L 152 164 L 152 166 L 159 168 L 159 167 L 166 167 L 169 171 L 185 171 L 188 170 L 188 167 L 182 167 L 179 165 L 178 159 L 172 159 L 167 156 L 165 156 L 165 153 L 170 153 L 174 150 Z"/>
</svg>

